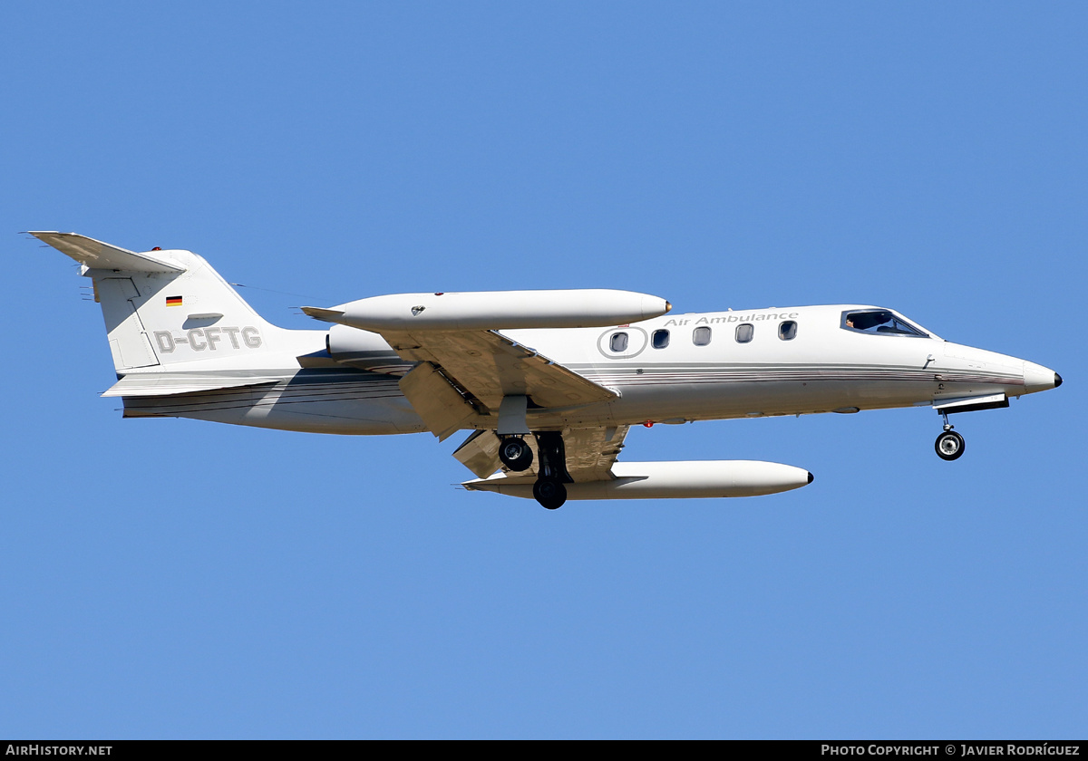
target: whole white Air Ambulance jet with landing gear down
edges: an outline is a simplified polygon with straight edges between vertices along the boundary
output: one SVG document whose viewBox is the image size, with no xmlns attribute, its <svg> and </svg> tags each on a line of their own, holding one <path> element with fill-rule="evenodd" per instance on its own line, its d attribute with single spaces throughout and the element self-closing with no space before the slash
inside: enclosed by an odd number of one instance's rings
<svg viewBox="0 0 1088 761">
<path fill-rule="evenodd" d="M 812 483 L 772 462 L 619 462 L 632 425 L 932 407 L 954 412 L 1062 384 L 1042 365 L 953 344 L 893 310 L 834 304 L 670 314 L 621 290 L 379 296 L 305 307 L 327 330 L 260 317 L 190 251 L 137 253 L 30 233 L 83 264 L 102 307 L 125 417 L 285 431 L 473 433 L 471 490 L 567 499 L 751 497 Z"/>
</svg>

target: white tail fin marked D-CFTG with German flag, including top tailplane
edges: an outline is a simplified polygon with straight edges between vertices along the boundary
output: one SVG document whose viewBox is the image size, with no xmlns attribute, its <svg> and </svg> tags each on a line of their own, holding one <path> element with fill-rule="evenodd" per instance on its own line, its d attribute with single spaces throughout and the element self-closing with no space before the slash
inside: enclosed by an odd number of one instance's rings
<svg viewBox="0 0 1088 761">
<path fill-rule="evenodd" d="M 83 264 L 81 274 L 92 278 L 119 375 L 184 362 L 269 366 L 269 352 L 294 358 L 299 349 L 319 348 L 310 346 L 317 332 L 265 322 L 191 251 L 137 253 L 74 233 L 30 235 Z"/>
</svg>

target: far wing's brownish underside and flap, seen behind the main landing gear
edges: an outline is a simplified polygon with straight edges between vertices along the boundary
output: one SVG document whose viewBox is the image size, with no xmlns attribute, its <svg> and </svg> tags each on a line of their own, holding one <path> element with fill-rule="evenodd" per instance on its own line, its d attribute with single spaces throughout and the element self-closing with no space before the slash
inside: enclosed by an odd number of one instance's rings
<svg viewBox="0 0 1088 761">
<path fill-rule="evenodd" d="M 567 454 L 567 472 L 576 484 L 593 481 L 611 481 L 611 466 L 616 457 L 623 448 L 628 426 L 567 428 L 562 432 L 562 442 Z M 540 451 L 536 439 L 528 436 L 526 440 L 533 449 L 533 464 L 527 471 L 510 475 L 507 478 L 523 479 L 532 484 L 536 479 L 540 465 Z M 458 447 L 454 457 L 480 478 L 486 478 L 500 466 L 498 460 L 498 436 L 494 431 L 478 431 Z M 506 471 L 506 469 L 503 469 Z M 520 483 L 520 482 L 519 482 Z"/>
</svg>

